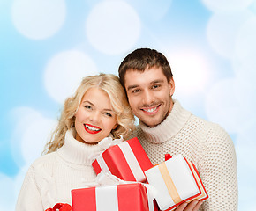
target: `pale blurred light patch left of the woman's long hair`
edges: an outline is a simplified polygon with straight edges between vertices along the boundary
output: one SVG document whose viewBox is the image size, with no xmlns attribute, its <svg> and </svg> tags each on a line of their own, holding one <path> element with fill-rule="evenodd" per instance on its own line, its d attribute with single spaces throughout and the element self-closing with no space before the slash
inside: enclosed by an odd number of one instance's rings
<svg viewBox="0 0 256 211">
<path fill-rule="evenodd" d="M 49 142 L 56 120 L 45 118 L 29 107 L 17 107 L 11 111 L 11 116 L 15 120 L 11 139 L 12 156 L 19 166 L 32 164 Z"/>
</svg>

